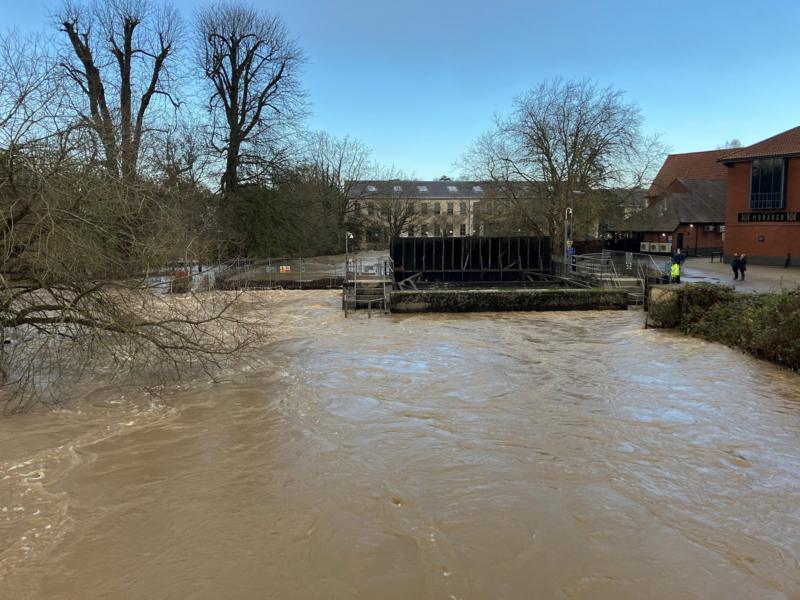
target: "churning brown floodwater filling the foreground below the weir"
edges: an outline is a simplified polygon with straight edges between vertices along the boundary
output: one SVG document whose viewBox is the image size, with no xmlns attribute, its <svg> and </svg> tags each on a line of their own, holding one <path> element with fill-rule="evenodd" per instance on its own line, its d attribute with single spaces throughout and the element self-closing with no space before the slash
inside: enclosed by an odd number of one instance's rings
<svg viewBox="0 0 800 600">
<path fill-rule="evenodd" d="M 800 598 L 797 375 L 640 312 L 267 296 L 223 383 L 0 421 L 0 597 Z"/>
</svg>

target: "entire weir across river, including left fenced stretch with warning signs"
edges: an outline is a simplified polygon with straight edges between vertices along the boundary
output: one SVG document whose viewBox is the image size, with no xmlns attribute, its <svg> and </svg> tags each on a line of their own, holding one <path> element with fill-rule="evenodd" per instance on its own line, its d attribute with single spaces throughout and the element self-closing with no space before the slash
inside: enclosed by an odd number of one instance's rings
<svg viewBox="0 0 800 600">
<path fill-rule="evenodd" d="M 247 258 L 199 273 L 231 289 L 339 289 L 347 316 L 373 312 L 625 310 L 647 302 L 668 264 L 603 250 L 554 257 L 546 236 L 399 237 L 388 254 Z M 192 280 L 193 288 L 202 288 Z"/>
</svg>

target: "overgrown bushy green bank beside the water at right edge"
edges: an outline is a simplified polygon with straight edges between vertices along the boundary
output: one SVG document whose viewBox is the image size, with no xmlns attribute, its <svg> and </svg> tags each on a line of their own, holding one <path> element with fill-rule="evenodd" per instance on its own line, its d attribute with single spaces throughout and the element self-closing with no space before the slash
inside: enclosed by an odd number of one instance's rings
<svg viewBox="0 0 800 600">
<path fill-rule="evenodd" d="M 800 370 L 800 289 L 737 294 L 730 287 L 696 283 L 661 291 L 651 296 L 650 325 L 679 329 Z"/>
</svg>

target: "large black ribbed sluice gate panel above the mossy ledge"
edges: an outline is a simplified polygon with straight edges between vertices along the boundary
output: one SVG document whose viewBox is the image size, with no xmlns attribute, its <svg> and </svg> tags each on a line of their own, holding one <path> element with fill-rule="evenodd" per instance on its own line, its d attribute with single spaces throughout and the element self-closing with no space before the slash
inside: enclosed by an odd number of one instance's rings
<svg viewBox="0 0 800 600">
<path fill-rule="evenodd" d="M 391 258 L 401 288 L 420 283 L 522 283 L 550 274 L 550 238 L 396 238 Z"/>
</svg>

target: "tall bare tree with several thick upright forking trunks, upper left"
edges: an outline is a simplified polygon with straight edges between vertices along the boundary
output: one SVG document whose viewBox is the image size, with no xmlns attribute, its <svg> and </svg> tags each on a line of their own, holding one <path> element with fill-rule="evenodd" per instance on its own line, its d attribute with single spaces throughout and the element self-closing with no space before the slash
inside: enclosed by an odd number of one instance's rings
<svg viewBox="0 0 800 600">
<path fill-rule="evenodd" d="M 77 86 L 80 125 L 93 131 L 115 177 L 136 174 L 147 117 L 157 96 L 173 106 L 169 61 L 180 20 L 169 5 L 149 0 L 67 2 L 58 15 L 68 39 L 62 67 Z"/>
</svg>

